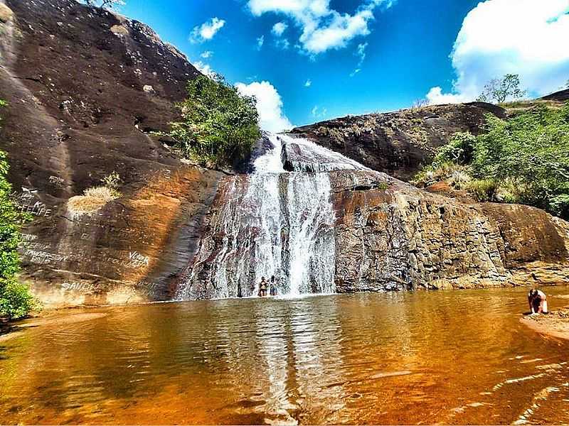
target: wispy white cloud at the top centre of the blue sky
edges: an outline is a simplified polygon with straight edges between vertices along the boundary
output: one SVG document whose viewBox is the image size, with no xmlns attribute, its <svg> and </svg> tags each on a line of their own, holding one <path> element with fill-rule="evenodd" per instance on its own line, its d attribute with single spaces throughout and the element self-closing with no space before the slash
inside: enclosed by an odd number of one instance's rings
<svg viewBox="0 0 569 426">
<path fill-rule="evenodd" d="M 301 30 L 299 45 L 311 55 L 344 48 L 353 38 L 368 35 L 373 10 L 380 5 L 390 7 L 392 4 L 393 0 L 363 0 L 358 9 L 350 14 L 331 9 L 330 0 L 248 1 L 249 9 L 255 16 L 279 13 L 292 18 L 295 26 Z"/>
</svg>

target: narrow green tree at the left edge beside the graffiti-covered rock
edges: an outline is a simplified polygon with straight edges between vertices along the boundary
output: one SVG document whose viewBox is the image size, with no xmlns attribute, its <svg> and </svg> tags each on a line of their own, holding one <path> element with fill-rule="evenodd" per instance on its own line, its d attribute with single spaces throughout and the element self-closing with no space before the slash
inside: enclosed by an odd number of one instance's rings
<svg viewBox="0 0 569 426">
<path fill-rule="evenodd" d="M 6 106 L 6 102 L 0 101 L 0 106 Z M 35 300 L 28 286 L 17 280 L 20 272 L 18 244 L 26 216 L 12 200 L 12 187 L 6 179 L 8 170 L 7 155 L 0 151 L 0 317 L 17 319 L 28 315 Z"/>
</svg>

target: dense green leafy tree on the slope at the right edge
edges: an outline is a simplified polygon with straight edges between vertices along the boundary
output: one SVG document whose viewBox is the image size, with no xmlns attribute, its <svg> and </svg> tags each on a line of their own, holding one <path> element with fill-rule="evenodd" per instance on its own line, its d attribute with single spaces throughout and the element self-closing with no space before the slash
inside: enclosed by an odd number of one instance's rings
<svg viewBox="0 0 569 426">
<path fill-rule="evenodd" d="M 569 219 L 569 104 L 486 121 L 488 131 L 477 137 L 474 150 L 474 175 L 510 182 L 520 202 Z"/>
</svg>

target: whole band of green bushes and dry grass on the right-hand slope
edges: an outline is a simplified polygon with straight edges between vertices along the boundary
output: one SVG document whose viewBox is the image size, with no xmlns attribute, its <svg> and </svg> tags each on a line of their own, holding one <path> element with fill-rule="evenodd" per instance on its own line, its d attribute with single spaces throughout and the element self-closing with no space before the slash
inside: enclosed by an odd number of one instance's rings
<svg viewBox="0 0 569 426">
<path fill-rule="evenodd" d="M 415 183 L 445 180 L 479 201 L 516 202 L 569 219 L 569 104 L 540 104 L 508 120 L 486 116 L 486 133 L 456 133 Z"/>
</svg>

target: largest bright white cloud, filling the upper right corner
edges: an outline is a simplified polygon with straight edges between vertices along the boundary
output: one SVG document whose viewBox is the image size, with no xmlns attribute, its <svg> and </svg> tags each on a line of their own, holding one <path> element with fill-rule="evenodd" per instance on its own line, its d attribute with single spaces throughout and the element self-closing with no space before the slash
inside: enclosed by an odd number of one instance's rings
<svg viewBox="0 0 569 426">
<path fill-rule="evenodd" d="M 432 103 L 476 99 L 484 84 L 519 74 L 532 95 L 554 92 L 568 78 L 568 0 L 486 0 L 464 18 L 452 50 L 452 93 L 433 87 Z M 565 40 L 565 41 L 563 41 Z"/>
</svg>

